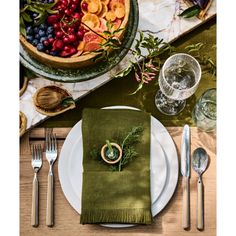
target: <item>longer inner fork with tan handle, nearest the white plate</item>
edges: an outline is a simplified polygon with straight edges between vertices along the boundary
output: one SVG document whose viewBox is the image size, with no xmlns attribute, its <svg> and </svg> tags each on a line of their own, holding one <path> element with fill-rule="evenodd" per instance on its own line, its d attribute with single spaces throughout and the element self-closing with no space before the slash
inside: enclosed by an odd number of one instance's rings
<svg viewBox="0 0 236 236">
<path fill-rule="evenodd" d="M 53 164 L 57 159 L 57 141 L 56 141 L 56 135 L 52 134 L 52 132 L 46 133 L 46 159 L 49 163 L 46 225 L 53 226 L 53 224 L 54 224 L 54 220 L 53 220 L 53 218 L 54 218 Z"/>
</svg>

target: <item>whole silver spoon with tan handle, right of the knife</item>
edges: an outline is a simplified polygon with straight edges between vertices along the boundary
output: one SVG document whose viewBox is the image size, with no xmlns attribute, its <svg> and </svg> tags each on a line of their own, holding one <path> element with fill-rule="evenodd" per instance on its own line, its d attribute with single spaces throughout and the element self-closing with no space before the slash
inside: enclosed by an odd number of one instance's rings
<svg viewBox="0 0 236 236">
<path fill-rule="evenodd" d="M 203 148 L 197 148 L 193 152 L 192 167 L 198 173 L 197 183 L 197 228 L 203 230 L 204 217 L 203 217 L 203 184 L 202 174 L 208 165 L 208 155 Z"/>
</svg>

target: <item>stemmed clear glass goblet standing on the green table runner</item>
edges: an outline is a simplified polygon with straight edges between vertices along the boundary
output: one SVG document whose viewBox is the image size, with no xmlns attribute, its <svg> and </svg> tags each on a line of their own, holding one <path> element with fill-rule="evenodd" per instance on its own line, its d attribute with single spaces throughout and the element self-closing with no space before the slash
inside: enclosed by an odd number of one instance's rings
<svg viewBox="0 0 236 236">
<path fill-rule="evenodd" d="M 159 74 L 159 86 L 155 104 L 166 115 L 180 113 L 186 104 L 185 99 L 192 96 L 201 79 L 198 61 L 185 53 L 169 57 Z"/>
</svg>

